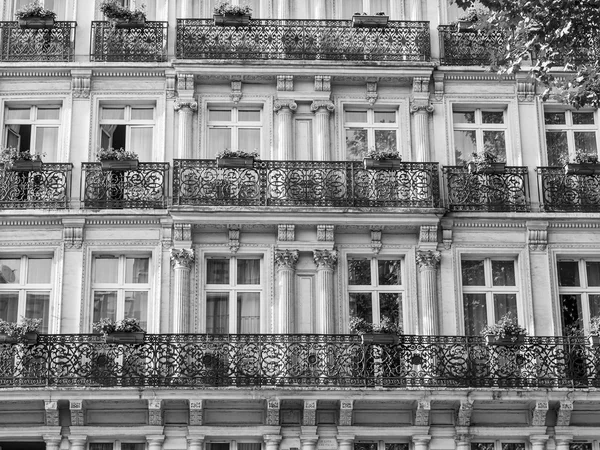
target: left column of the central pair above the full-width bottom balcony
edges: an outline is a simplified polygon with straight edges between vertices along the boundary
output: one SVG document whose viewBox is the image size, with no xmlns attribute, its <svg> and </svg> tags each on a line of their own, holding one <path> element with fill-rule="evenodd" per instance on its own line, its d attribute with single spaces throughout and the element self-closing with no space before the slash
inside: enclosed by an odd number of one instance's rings
<svg viewBox="0 0 600 450">
<path fill-rule="evenodd" d="M 277 250 L 277 286 L 279 291 L 279 308 L 277 314 L 277 333 L 290 334 L 294 332 L 296 306 L 295 276 L 298 263 L 298 250 Z"/>
</svg>

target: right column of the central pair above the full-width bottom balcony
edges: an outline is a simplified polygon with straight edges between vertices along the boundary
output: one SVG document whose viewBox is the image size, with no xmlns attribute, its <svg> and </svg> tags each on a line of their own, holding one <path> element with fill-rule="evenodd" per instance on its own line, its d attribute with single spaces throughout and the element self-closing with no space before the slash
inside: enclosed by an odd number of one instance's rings
<svg viewBox="0 0 600 450">
<path fill-rule="evenodd" d="M 317 266 L 316 276 L 316 329 L 317 334 L 333 334 L 333 271 L 337 264 L 337 251 L 315 250 L 313 259 Z"/>
</svg>

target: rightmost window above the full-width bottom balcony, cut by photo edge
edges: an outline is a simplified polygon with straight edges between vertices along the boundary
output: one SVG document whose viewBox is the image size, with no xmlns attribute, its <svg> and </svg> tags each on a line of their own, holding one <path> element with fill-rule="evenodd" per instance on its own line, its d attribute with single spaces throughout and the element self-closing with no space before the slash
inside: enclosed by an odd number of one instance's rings
<svg viewBox="0 0 600 450">
<path fill-rule="evenodd" d="M 557 262 L 563 334 L 589 331 L 590 318 L 600 316 L 600 260 Z"/>
</svg>

